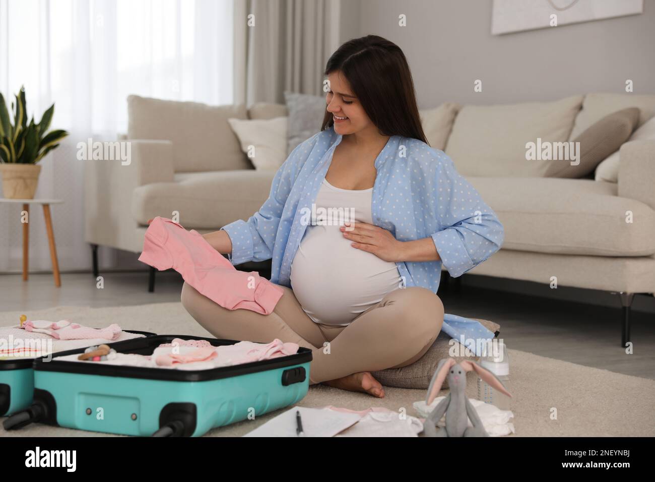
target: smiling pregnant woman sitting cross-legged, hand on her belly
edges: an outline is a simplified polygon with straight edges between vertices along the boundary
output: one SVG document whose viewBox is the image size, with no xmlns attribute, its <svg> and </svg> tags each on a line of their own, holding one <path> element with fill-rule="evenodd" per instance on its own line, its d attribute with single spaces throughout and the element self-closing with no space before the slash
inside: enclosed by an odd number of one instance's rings
<svg viewBox="0 0 655 482">
<path fill-rule="evenodd" d="M 441 330 L 441 264 L 474 268 L 503 229 L 428 146 L 397 45 L 350 40 L 325 75 L 321 131 L 291 152 L 258 212 L 204 235 L 234 265 L 272 259 L 284 289 L 274 311 L 227 310 L 187 283 L 181 300 L 217 338 L 309 348 L 310 384 L 384 397 L 371 372 L 414 363 Z"/>
</svg>

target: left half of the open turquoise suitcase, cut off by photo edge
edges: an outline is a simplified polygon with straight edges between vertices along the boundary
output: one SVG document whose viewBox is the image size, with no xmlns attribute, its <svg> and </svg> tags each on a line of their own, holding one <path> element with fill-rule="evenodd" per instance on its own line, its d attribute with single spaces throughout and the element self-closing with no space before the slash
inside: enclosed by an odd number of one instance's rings
<svg viewBox="0 0 655 482">
<path fill-rule="evenodd" d="M 156 334 L 148 331 L 124 331 L 142 334 L 145 337 Z M 52 357 L 54 356 L 56 354 L 52 353 Z M 0 360 L 0 416 L 11 415 L 31 405 L 34 394 L 33 362 L 33 358 Z"/>
</svg>

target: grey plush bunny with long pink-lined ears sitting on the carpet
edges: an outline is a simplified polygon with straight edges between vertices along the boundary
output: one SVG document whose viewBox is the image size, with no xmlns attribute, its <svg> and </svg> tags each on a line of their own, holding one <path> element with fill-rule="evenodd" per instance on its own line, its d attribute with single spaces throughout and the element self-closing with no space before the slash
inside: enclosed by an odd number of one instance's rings
<svg viewBox="0 0 655 482">
<path fill-rule="evenodd" d="M 512 397 L 495 374 L 483 369 L 476 362 L 464 360 L 457 363 L 454 358 L 440 360 L 428 387 L 426 403 L 429 406 L 437 397 L 446 376 L 448 376 L 450 393 L 434 407 L 434 410 L 423 422 L 426 437 L 489 437 L 489 433 L 487 433 L 482 421 L 477 416 L 476 409 L 466 397 L 466 372 L 472 370 L 476 371 L 482 380 L 498 390 L 498 392 Z M 437 430 L 437 422 L 441 420 L 444 413 L 446 415 L 446 426 Z M 472 427 L 468 426 L 469 418 Z"/>
</svg>

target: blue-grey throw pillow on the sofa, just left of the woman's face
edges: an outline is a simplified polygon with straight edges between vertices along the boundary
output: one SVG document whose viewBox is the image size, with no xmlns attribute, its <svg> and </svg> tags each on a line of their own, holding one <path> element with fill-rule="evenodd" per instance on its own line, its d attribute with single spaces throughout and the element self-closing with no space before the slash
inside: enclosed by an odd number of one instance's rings
<svg viewBox="0 0 655 482">
<path fill-rule="evenodd" d="M 320 131 L 326 112 L 325 96 L 284 92 L 284 100 L 289 111 L 287 124 L 287 155 L 293 149 Z"/>
</svg>

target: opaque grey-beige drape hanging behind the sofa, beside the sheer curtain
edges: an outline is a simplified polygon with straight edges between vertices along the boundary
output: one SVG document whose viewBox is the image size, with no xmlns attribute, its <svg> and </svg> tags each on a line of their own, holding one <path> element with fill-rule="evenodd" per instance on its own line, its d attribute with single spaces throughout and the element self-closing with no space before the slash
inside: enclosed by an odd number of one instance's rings
<svg viewBox="0 0 655 482">
<path fill-rule="evenodd" d="M 284 90 L 324 95 L 323 71 L 340 45 L 342 1 L 234 0 L 236 103 L 284 104 Z"/>
</svg>

